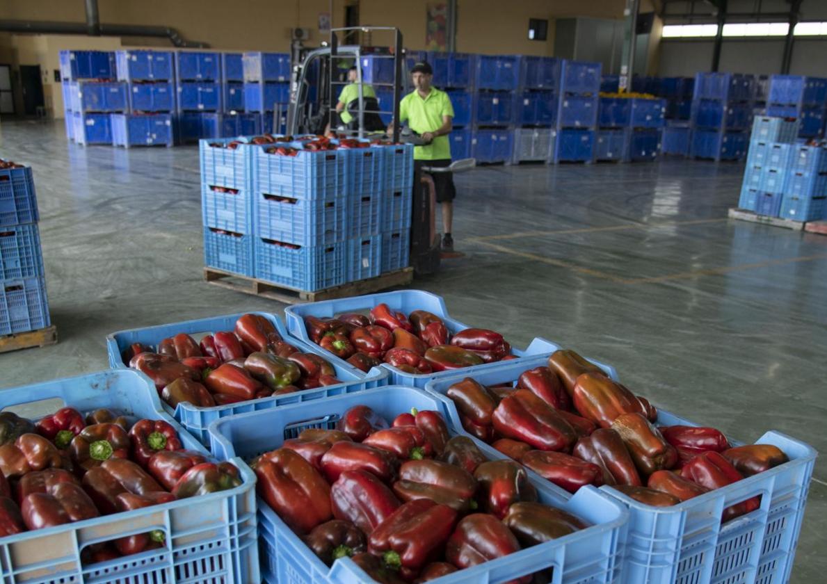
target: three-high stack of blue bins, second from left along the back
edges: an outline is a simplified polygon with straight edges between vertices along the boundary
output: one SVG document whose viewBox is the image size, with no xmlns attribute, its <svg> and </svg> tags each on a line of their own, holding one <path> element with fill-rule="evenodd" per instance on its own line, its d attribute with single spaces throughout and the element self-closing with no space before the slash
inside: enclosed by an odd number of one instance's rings
<svg viewBox="0 0 827 584">
<path fill-rule="evenodd" d="M 117 79 L 126 84 L 128 112 L 112 113 L 112 146 L 172 146 L 174 57 L 170 50 L 118 50 Z"/>
</svg>

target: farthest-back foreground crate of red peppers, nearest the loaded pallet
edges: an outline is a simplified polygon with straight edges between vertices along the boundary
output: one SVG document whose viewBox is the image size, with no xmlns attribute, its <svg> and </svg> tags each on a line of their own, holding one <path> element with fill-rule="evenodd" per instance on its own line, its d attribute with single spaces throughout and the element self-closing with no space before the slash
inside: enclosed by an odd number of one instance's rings
<svg viewBox="0 0 827 584">
<path fill-rule="evenodd" d="M 424 387 L 457 369 L 473 371 L 557 349 L 542 338 L 524 351 L 513 349 L 500 333 L 451 318 L 442 298 L 423 290 L 297 304 L 284 314 L 294 337 L 362 371 L 381 364 L 394 385 Z"/>
</svg>

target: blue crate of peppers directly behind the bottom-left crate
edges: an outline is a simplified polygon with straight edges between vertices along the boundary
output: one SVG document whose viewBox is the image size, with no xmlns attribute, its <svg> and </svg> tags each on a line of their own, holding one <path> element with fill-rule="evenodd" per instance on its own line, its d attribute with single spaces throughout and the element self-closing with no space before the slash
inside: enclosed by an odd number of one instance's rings
<svg viewBox="0 0 827 584">
<path fill-rule="evenodd" d="M 208 446 L 207 427 L 232 414 L 379 385 L 388 374 L 320 357 L 273 314 L 227 314 L 107 335 L 109 366 L 151 378 L 165 411 Z"/>
</svg>

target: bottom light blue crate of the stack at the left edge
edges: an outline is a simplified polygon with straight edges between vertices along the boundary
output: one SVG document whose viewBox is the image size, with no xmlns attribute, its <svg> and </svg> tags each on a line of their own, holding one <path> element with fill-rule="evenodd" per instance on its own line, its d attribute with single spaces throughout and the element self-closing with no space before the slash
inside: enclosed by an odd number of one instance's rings
<svg viewBox="0 0 827 584">
<path fill-rule="evenodd" d="M 50 324 L 42 276 L 0 280 L 0 335 L 35 331 Z"/>
</svg>

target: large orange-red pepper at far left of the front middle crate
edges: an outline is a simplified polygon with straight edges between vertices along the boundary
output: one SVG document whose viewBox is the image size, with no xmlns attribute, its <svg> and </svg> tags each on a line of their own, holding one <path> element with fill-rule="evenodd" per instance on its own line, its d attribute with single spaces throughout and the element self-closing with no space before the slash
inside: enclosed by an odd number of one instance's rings
<svg viewBox="0 0 827 584">
<path fill-rule="evenodd" d="M 258 477 L 256 491 L 291 529 L 306 534 L 332 518 L 330 486 L 296 452 L 266 452 L 250 466 Z"/>
</svg>

